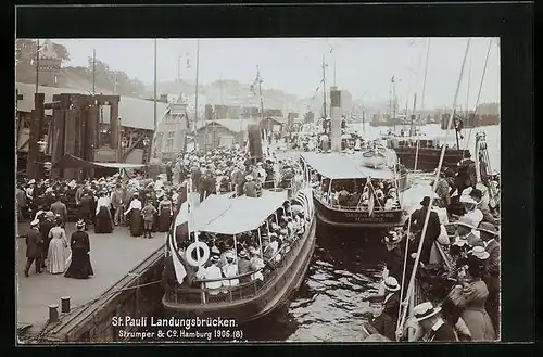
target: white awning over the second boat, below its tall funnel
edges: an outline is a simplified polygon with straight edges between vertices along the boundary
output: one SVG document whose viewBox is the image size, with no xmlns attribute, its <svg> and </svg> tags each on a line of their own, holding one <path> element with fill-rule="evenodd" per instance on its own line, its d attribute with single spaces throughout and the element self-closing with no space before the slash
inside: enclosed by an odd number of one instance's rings
<svg viewBox="0 0 543 357">
<path fill-rule="evenodd" d="M 340 153 L 303 153 L 303 160 L 320 175 L 332 179 L 357 179 L 376 178 L 383 180 L 394 179 L 394 173 L 390 168 L 370 168 L 357 160 L 357 154 Z"/>
</svg>

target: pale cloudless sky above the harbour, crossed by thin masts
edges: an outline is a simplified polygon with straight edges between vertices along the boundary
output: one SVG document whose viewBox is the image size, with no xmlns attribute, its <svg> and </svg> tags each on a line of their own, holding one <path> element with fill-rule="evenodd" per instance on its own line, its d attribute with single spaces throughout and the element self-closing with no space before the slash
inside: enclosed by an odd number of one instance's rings
<svg viewBox="0 0 543 357">
<path fill-rule="evenodd" d="M 52 39 L 63 43 L 71 55 L 64 65 L 87 66 L 96 50 L 97 59 L 111 68 L 152 84 L 153 39 Z M 235 79 L 250 84 L 256 66 L 263 89 L 280 89 L 299 97 L 313 97 L 323 79 L 323 56 L 328 66 L 327 87 L 336 84 L 354 100 L 388 101 L 395 78 L 400 106 L 408 99 L 417 107 L 451 107 L 466 56 L 457 106 L 473 109 L 479 103 L 500 102 L 500 46 L 494 38 L 251 38 L 251 39 L 157 39 L 157 80 L 178 76 L 195 79 L 197 47 L 200 43 L 199 81 Z M 481 86 L 487 52 L 484 80 Z M 429 46 L 429 50 L 428 50 Z M 428 64 L 426 59 L 428 54 Z M 187 61 L 190 68 L 187 68 Z M 336 71 L 334 71 L 336 68 Z M 425 84 L 426 69 L 426 84 Z M 336 73 L 336 75 L 334 75 Z M 422 95 L 424 92 L 424 95 Z"/>
</svg>

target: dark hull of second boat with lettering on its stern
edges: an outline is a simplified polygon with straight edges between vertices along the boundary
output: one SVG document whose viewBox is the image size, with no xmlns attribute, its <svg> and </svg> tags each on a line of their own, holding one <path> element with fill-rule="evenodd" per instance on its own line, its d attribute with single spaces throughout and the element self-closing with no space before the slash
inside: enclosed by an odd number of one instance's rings
<svg viewBox="0 0 543 357">
<path fill-rule="evenodd" d="M 405 221 L 403 209 L 377 211 L 369 216 L 368 212 L 353 209 L 336 209 L 325 205 L 313 196 L 317 218 L 330 226 L 342 228 L 388 228 L 402 226 Z"/>
</svg>

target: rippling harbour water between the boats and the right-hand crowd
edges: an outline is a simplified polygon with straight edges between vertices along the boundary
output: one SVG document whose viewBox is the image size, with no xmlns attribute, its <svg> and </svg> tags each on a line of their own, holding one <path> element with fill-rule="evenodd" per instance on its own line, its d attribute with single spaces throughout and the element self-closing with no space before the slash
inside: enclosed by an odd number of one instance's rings
<svg viewBox="0 0 543 357">
<path fill-rule="evenodd" d="M 361 125 L 362 130 L 362 125 Z M 364 137 L 379 136 L 384 127 L 364 128 Z M 444 137 L 439 125 L 421 127 L 428 137 Z M 476 132 L 487 135 L 492 169 L 500 171 L 500 126 L 475 128 L 469 150 L 473 152 Z M 469 129 L 464 130 L 467 139 Z M 447 143 L 454 144 L 454 131 Z M 460 141 L 460 146 L 466 143 Z M 417 208 L 431 191 L 433 176 L 415 177 L 413 187 L 401 195 L 408 212 Z M 292 342 L 359 342 L 364 314 L 369 311 L 363 292 L 377 290 L 383 268 L 381 237 L 370 234 L 364 244 L 359 232 L 317 227 L 317 245 L 306 278 L 290 302 L 275 313 L 240 327 L 243 339 Z M 162 311 L 157 311 L 160 315 Z"/>
</svg>

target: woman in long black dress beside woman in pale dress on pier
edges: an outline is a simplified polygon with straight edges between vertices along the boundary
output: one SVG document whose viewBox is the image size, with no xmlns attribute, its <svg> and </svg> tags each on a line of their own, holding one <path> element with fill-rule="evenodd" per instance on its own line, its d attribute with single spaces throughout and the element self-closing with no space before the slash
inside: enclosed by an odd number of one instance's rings
<svg viewBox="0 0 543 357">
<path fill-rule="evenodd" d="M 72 233 L 70 246 L 72 247 L 72 263 L 64 277 L 75 279 L 88 279 L 93 276 L 90 264 L 90 241 L 89 234 L 85 232 L 85 222 L 79 220 L 76 224 L 77 231 Z"/>
</svg>

